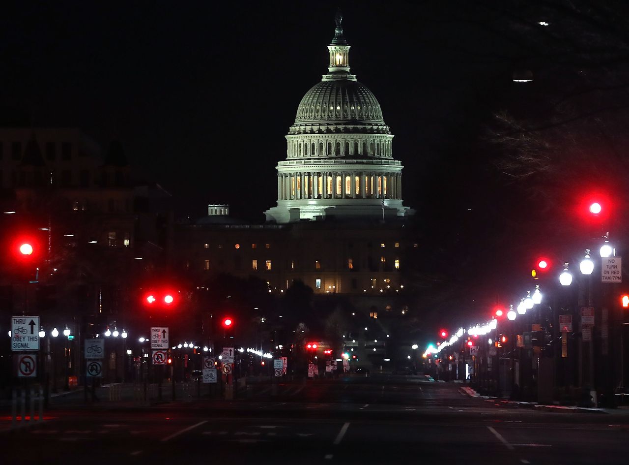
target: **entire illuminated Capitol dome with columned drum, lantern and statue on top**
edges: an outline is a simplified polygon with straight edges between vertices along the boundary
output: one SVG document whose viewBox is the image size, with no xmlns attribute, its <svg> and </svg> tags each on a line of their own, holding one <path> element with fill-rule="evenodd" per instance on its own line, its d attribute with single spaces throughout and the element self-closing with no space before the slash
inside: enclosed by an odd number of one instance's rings
<svg viewBox="0 0 629 465">
<path fill-rule="evenodd" d="M 301 99 L 277 163 L 277 207 L 267 221 L 288 223 L 403 217 L 402 164 L 376 96 L 350 73 L 337 13 L 328 72 Z"/>
</svg>

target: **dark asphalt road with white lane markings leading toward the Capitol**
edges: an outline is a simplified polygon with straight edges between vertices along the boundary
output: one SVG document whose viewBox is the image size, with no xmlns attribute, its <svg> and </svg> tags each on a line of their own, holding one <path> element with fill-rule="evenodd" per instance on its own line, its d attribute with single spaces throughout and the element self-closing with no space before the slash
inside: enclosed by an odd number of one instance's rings
<svg viewBox="0 0 629 465">
<path fill-rule="evenodd" d="M 629 463 L 629 415 L 469 398 L 421 377 L 258 384 L 237 401 L 67 401 L 0 433 L 7 464 Z M 275 394 L 275 395 L 274 395 Z M 6 418 L 6 417 L 3 417 Z"/>
</svg>

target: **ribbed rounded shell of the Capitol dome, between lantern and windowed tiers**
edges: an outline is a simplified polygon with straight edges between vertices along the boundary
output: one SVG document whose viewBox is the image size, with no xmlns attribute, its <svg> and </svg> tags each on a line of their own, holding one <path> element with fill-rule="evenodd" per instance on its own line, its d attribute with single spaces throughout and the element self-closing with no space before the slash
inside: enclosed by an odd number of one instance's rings
<svg viewBox="0 0 629 465">
<path fill-rule="evenodd" d="M 299 103 L 295 124 L 347 120 L 384 125 L 380 104 L 366 86 L 350 79 L 330 79 L 306 92 Z"/>
</svg>

